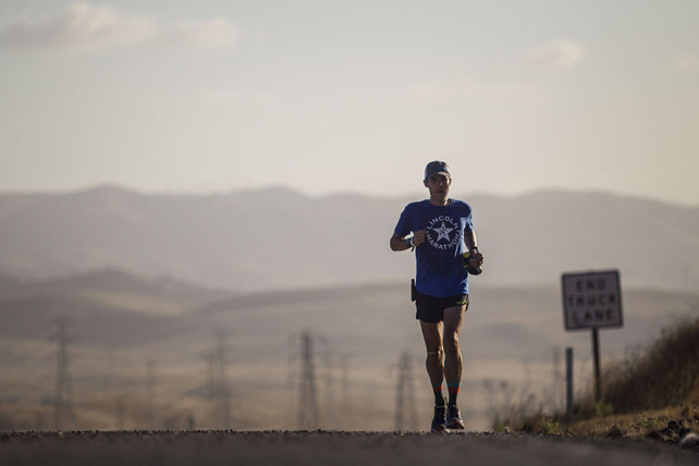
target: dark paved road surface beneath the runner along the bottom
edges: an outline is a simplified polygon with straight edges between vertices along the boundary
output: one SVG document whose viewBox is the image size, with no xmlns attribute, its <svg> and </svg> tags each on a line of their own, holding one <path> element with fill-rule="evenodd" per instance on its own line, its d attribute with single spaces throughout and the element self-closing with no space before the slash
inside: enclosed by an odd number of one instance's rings
<svg viewBox="0 0 699 466">
<path fill-rule="evenodd" d="M 0 465 L 699 465 L 650 442 L 490 433 L 105 431 L 0 433 Z"/>
</svg>

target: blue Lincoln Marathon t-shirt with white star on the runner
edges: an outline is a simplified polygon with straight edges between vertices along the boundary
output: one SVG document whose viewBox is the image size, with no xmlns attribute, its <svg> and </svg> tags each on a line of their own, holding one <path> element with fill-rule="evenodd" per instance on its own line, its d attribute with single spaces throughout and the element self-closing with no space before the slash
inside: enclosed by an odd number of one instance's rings
<svg viewBox="0 0 699 466">
<path fill-rule="evenodd" d="M 468 272 L 464 268 L 464 232 L 474 229 L 470 206 L 450 199 L 446 206 L 432 206 L 429 199 L 408 204 L 395 234 L 427 230 L 427 241 L 415 248 L 419 293 L 445 297 L 468 294 Z"/>
</svg>

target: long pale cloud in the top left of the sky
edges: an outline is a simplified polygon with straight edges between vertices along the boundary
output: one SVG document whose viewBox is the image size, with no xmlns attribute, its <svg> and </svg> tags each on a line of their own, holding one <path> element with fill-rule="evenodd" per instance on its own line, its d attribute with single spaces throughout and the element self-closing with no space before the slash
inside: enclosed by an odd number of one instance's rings
<svg viewBox="0 0 699 466">
<path fill-rule="evenodd" d="M 109 5 L 73 3 L 49 19 L 11 23 L 0 29 L 0 46 L 71 53 L 147 45 L 229 47 L 235 45 L 236 35 L 225 19 L 163 25 L 154 17 L 125 14 Z"/>
</svg>

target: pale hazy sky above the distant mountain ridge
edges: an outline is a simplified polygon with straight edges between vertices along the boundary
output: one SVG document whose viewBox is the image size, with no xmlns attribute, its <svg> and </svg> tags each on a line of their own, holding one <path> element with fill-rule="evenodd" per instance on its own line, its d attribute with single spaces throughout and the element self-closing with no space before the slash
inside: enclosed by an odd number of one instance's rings
<svg viewBox="0 0 699 466">
<path fill-rule="evenodd" d="M 0 192 L 699 206 L 696 0 L 0 0 Z"/>
</svg>

